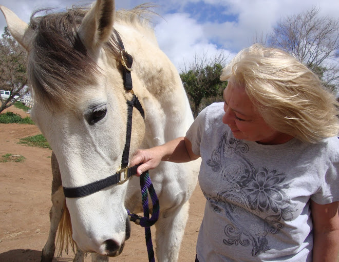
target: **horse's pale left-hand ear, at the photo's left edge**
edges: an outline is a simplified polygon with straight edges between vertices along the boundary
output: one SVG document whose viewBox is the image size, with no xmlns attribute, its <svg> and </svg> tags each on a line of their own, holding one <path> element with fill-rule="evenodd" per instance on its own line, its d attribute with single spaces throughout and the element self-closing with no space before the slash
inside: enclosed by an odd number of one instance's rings
<svg viewBox="0 0 339 262">
<path fill-rule="evenodd" d="M 7 7 L 0 5 L 0 9 L 5 16 L 9 32 L 14 39 L 28 51 L 33 30 Z"/>
</svg>

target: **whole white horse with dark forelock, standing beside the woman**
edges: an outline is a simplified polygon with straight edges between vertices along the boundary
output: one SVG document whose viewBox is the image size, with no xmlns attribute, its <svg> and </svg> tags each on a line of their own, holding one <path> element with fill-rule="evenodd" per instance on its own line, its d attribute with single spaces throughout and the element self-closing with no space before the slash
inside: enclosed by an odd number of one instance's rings
<svg viewBox="0 0 339 262">
<path fill-rule="evenodd" d="M 144 110 L 144 118 L 133 111 L 129 156 L 138 148 L 184 135 L 193 117 L 176 68 L 159 49 L 147 19 L 140 18 L 147 14 L 144 8 L 115 12 L 114 0 L 98 0 L 89 10 L 33 17 L 29 25 L 6 7 L 1 10 L 12 36 L 28 52 L 31 115 L 55 153 L 51 228 L 43 250 L 47 261 L 54 255 L 63 211 L 62 186 L 95 183 L 120 169 L 127 100 L 135 94 Z M 131 66 L 134 94 L 124 88 L 128 80 L 123 79 Z M 178 260 L 198 166 L 163 162 L 150 171 L 160 203 L 155 224 L 158 261 Z M 83 260 L 84 251 L 96 253 L 93 261 L 108 261 L 122 252 L 128 238 L 126 209 L 142 211 L 139 179 L 66 197 L 66 206 L 72 238 L 82 250 L 74 260 Z"/>
</svg>

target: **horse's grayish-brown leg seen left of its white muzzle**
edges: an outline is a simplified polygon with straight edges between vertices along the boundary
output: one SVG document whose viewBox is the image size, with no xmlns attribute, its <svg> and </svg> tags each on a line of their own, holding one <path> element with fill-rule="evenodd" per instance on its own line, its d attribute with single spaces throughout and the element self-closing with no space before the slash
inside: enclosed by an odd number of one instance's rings
<svg viewBox="0 0 339 262">
<path fill-rule="evenodd" d="M 53 152 L 51 166 L 53 180 L 52 180 L 52 207 L 49 211 L 50 227 L 47 242 L 42 250 L 41 262 L 51 262 L 53 260 L 55 252 L 56 231 L 58 230 L 65 201 L 65 195 L 61 186 L 61 175 L 59 171 L 59 165 Z"/>
</svg>

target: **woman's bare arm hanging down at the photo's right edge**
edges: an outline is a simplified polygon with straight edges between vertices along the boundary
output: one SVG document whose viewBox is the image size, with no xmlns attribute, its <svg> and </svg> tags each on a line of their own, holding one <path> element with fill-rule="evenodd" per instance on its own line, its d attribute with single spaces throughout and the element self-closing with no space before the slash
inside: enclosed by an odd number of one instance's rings
<svg viewBox="0 0 339 262">
<path fill-rule="evenodd" d="M 339 252 L 338 201 L 319 205 L 311 200 L 313 262 L 336 262 Z"/>
</svg>

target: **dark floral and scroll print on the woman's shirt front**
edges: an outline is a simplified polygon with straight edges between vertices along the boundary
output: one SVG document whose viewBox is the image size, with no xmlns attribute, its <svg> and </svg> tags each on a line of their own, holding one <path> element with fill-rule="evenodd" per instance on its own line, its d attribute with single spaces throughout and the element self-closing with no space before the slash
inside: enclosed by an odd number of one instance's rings
<svg viewBox="0 0 339 262">
<path fill-rule="evenodd" d="M 217 197 L 204 192 L 214 212 L 224 212 L 231 224 L 224 226 L 225 245 L 252 245 L 252 255 L 270 250 L 268 234 L 277 234 L 281 219 L 293 219 L 284 182 L 286 175 L 265 167 L 255 168 L 245 157 L 249 147 L 242 140 L 220 139 L 207 164 L 218 172 Z"/>
</svg>

